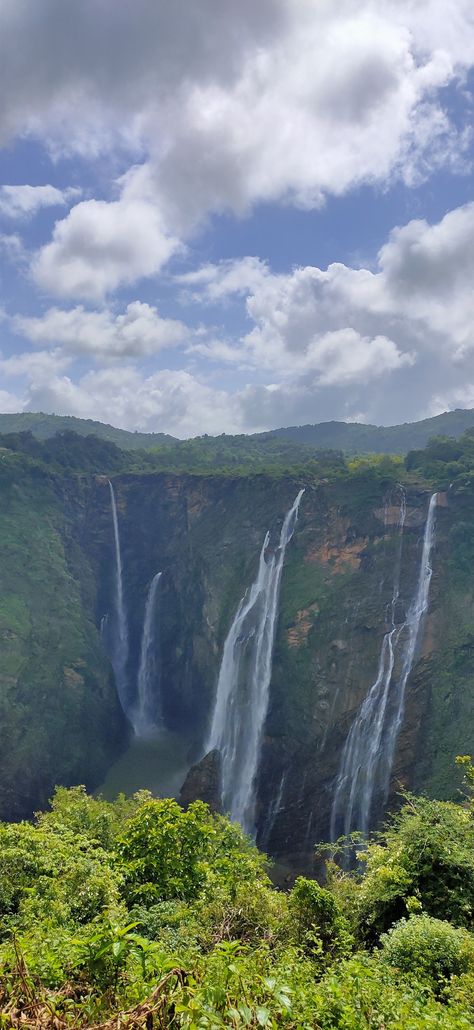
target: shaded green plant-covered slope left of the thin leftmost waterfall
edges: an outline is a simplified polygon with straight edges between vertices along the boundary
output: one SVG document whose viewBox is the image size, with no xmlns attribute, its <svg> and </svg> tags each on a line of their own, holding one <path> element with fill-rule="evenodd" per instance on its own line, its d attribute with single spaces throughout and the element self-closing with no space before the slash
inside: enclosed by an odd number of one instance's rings
<svg viewBox="0 0 474 1030">
<path fill-rule="evenodd" d="M 95 786 L 123 730 L 62 496 L 16 453 L 0 459 L 0 812 L 18 818 L 59 779 Z"/>
</svg>

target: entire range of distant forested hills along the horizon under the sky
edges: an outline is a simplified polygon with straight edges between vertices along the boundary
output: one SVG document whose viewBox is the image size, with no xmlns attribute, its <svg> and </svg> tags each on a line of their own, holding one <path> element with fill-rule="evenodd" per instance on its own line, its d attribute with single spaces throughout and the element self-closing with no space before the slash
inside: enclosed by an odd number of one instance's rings
<svg viewBox="0 0 474 1030">
<path fill-rule="evenodd" d="M 447 436 L 459 438 L 474 425 L 474 408 L 445 411 L 434 418 L 420 422 L 405 422 L 403 425 L 363 425 L 360 422 L 318 422 L 314 425 L 291 425 L 286 428 L 271 430 L 252 436 L 196 437 L 193 441 L 181 441 L 194 452 L 196 444 L 202 451 L 229 453 L 250 449 L 253 453 L 263 443 L 264 452 L 270 441 L 275 439 L 304 446 L 306 457 L 308 448 L 340 450 L 346 454 L 406 454 L 409 450 L 425 447 L 432 437 Z M 94 421 L 91 418 L 75 418 L 72 415 L 45 415 L 42 412 L 19 412 L 0 414 L 0 434 L 30 432 L 37 440 L 48 440 L 57 433 L 74 432 L 79 436 L 95 436 L 110 441 L 123 450 L 150 450 L 162 446 L 173 446 L 176 439 L 166 433 L 129 433 L 113 425 Z M 270 447 L 271 450 L 271 447 Z"/>
</svg>

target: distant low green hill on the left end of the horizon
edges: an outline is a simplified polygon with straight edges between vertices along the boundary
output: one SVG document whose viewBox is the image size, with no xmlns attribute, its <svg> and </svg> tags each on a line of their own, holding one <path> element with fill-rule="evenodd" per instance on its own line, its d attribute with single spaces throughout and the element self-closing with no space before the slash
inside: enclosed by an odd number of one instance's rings
<svg viewBox="0 0 474 1030">
<path fill-rule="evenodd" d="M 48 440 L 56 433 L 77 433 L 81 437 L 95 436 L 109 440 L 123 450 L 140 450 L 159 444 L 173 443 L 174 437 L 167 433 L 129 433 L 113 425 L 96 422 L 92 418 L 75 418 L 73 415 L 44 415 L 43 412 L 24 411 L 14 415 L 0 414 L 0 433 L 30 432 L 37 440 Z"/>
</svg>

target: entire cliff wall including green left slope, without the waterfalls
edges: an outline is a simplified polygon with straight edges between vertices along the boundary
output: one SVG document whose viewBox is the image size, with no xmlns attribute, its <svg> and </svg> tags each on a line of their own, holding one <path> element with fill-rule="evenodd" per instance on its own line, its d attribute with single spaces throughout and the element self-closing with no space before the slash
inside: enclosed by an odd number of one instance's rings
<svg viewBox="0 0 474 1030">
<path fill-rule="evenodd" d="M 146 591 L 161 571 L 163 711 L 170 729 L 194 741 L 190 766 L 203 753 L 223 644 L 255 578 L 265 533 L 275 539 L 306 485 L 283 570 L 258 811 L 261 843 L 289 865 L 310 868 L 313 844 L 328 837 L 341 751 L 376 677 L 387 628 L 400 542 L 397 484 L 369 473 L 332 484 L 263 475 L 125 474 L 113 484 L 131 689 Z M 18 518 L 20 505 L 27 521 L 10 555 L 12 599 L 2 630 L 11 656 L 1 663 L 7 745 L 11 740 L 1 769 L 8 816 L 16 811 L 19 778 L 24 814 L 42 803 L 40 791 L 55 781 L 100 782 L 126 735 L 97 628 L 112 610 L 114 589 L 107 480 L 71 482 L 53 500 L 48 493 L 44 517 L 35 484 L 20 490 L 16 496 L 9 488 L 10 516 Z M 429 496 L 427 487 L 407 487 L 400 610 L 416 586 Z M 33 533 L 38 516 L 40 539 Z M 440 495 L 430 614 L 408 682 L 392 797 L 400 784 L 452 795 L 453 757 L 472 748 L 473 521 L 462 497 Z M 24 622 L 15 622 L 19 568 L 26 577 Z M 39 769 L 45 771 L 38 790 Z M 196 772 L 192 782 L 199 793 Z"/>
</svg>

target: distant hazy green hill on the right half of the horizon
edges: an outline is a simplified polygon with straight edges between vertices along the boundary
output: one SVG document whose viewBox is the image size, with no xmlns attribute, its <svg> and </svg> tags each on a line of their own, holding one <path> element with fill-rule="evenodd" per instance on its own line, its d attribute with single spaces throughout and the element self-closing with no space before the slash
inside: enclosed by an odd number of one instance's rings
<svg viewBox="0 0 474 1030">
<path fill-rule="evenodd" d="M 474 408 L 456 408 L 420 422 L 403 425 L 362 425 L 360 422 L 318 422 L 315 425 L 291 425 L 259 434 L 260 439 L 281 437 L 295 444 L 315 448 L 335 448 L 346 454 L 406 454 L 425 447 L 431 437 L 461 437 L 474 426 Z"/>
</svg>

